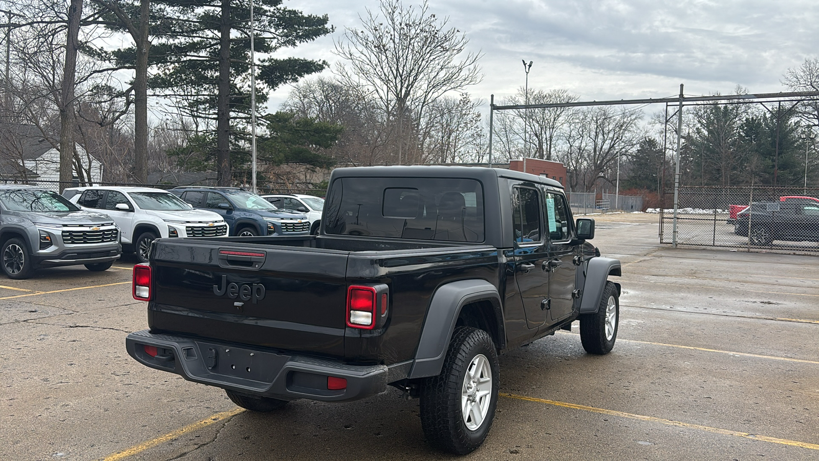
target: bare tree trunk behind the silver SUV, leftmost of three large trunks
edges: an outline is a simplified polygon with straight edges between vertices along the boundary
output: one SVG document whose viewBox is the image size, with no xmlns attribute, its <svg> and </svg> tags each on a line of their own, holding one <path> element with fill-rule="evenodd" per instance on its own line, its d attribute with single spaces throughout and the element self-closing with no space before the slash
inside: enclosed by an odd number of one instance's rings
<svg viewBox="0 0 819 461">
<path fill-rule="evenodd" d="M 71 0 L 68 8 L 66 62 L 62 71 L 60 94 L 60 193 L 71 184 L 74 160 L 74 89 L 76 85 L 79 19 L 83 16 L 83 0 Z"/>
</svg>

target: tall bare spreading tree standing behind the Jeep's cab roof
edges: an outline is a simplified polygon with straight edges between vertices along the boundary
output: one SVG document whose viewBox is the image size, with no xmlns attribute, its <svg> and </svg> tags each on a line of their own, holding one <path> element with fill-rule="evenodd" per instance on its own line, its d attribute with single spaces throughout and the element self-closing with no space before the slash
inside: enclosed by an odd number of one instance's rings
<svg viewBox="0 0 819 461">
<path fill-rule="evenodd" d="M 388 119 L 396 122 L 397 162 L 404 162 L 405 132 L 418 152 L 419 124 L 428 106 L 450 91 L 482 80 L 480 53 L 468 52 L 468 39 L 449 19 L 439 20 L 425 1 L 416 10 L 400 0 L 381 0 L 380 13 L 367 10 L 362 29 L 347 29 L 335 53 L 342 83 L 373 94 Z"/>
</svg>

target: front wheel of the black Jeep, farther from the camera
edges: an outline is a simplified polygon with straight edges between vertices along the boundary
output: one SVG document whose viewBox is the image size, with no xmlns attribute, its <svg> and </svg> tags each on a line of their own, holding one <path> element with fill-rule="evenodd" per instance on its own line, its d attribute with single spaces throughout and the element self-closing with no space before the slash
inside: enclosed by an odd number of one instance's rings
<svg viewBox="0 0 819 461">
<path fill-rule="evenodd" d="M 580 340 L 589 354 L 609 354 L 617 340 L 620 323 L 620 294 L 613 282 L 606 281 L 596 313 L 580 316 Z"/>
</svg>

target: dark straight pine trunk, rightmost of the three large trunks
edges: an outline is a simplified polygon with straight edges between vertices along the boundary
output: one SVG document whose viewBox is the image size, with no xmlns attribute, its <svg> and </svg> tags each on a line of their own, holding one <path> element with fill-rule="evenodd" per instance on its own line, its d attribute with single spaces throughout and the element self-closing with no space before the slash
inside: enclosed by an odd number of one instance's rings
<svg viewBox="0 0 819 461">
<path fill-rule="evenodd" d="M 217 185 L 230 185 L 230 2 L 222 0 L 219 37 L 219 95 L 216 108 Z"/>
</svg>

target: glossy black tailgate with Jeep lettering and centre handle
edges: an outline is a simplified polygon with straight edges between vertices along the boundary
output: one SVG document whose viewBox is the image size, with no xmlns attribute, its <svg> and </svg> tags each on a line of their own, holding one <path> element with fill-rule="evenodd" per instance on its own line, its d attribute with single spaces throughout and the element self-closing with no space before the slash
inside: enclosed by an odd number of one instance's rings
<svg viewBox="0 0 819 461">
<path fill-rule="evenodd" d="M 348 253 L 213 240 L 154 242 L 152 331 L 344 355 Z"/>
</svg>

